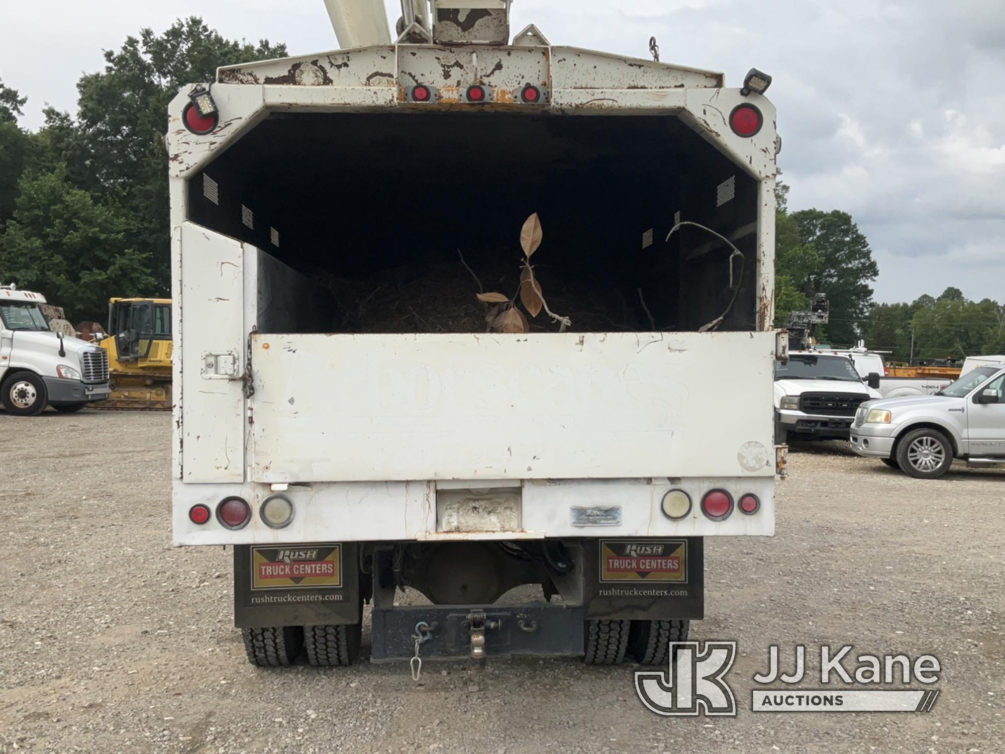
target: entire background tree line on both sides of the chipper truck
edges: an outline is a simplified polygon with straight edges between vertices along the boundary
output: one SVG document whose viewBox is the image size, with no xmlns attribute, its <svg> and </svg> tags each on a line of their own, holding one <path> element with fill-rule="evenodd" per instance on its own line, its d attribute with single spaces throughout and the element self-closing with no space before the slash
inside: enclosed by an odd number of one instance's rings
<svg viewBox="0 0 1005 754">
<path fill-rule="evenodd" d="M 0 80 L 0 282 L 43 293 L 74 322 L 104 320 L 112 297 L 170 296 L 168 104 L 218 66 L 285 54 L 198 17 L 146 28 L 79 78 L 75 114 L 46 107 L 33 132 L 18 124 L 28 98 Z M 1002 305 L 956 289 L 875 304 L 879 270 L 851 216 L 790 211 L 784 183 L 777 197 L 777 325 L 825 293 L 831 321 L 818 337 L 835 345 L 864 339 L 899 361 L 1005 351 Z"/>
</svg>

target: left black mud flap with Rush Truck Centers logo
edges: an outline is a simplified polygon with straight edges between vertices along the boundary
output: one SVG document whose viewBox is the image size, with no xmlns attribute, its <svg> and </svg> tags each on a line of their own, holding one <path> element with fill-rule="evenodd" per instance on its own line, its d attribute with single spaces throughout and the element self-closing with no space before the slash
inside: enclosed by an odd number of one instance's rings
<svg viewBox="0 0 1005 754">
<path fill-rule="evenodd" d="M 359 545 L 234 547 L 234 625 L 359 623 Z"/>
</svg>

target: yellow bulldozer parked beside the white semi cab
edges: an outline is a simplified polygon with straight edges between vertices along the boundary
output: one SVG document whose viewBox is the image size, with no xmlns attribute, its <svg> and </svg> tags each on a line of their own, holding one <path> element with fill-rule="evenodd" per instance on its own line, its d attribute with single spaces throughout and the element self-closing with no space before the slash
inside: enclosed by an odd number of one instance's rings
<svg viewBox="0 0 1005 754">
<path fill-rule="evenodd" d="M 95 407 L 171 408 L 170 299 L 112 299 L 98 345 L 109 352 L 112 395 Z"/>
</svg>

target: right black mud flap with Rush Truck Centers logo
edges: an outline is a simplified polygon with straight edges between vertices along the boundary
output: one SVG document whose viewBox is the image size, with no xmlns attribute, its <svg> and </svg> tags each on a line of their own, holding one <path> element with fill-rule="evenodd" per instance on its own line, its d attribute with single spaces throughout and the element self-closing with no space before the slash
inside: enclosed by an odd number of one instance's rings
<svg viewBox="0 0 1005 754">
<path fill-rule="evenodd" d="M 700 537 L 584 542 L 586 616 L 703 618 L 703 549 Z"/>
</svg>

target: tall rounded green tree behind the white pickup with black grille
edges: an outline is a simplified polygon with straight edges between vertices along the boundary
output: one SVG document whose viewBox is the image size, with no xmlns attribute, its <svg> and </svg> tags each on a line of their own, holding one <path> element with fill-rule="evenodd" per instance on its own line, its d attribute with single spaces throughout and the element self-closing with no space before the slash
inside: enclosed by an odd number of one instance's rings
<svg viewBox="0 0 1005 754">
<path fill-rule="evenodd" d="M 827 334 L 832 343 L 852 344 L 861 337 L 872 305 L 871 280 L 879 274 L 865 236 L 851 215 L 840 210 L 793 212 L 803 243 L 812 244 L 820 262 L 805 278 L 806 295 L 824 293 L 830 302 Z"/>
</svg>

